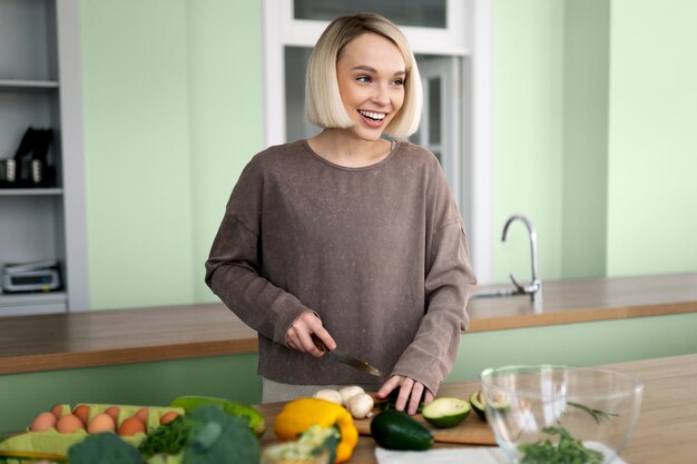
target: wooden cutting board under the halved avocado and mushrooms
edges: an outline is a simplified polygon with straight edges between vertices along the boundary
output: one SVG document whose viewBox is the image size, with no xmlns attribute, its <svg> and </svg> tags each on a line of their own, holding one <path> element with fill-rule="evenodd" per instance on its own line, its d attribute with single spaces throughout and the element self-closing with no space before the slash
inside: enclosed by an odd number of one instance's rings
<svg viewBox="0 0 697 464">
<path fill-rule="evenodd" d="M 373 417 L 377 413 L 380 413 L 379 408 L 373 409 Z M 435 428 L 429 424 L 421 414 L 416 414 L 412 417 L 431 431 L 435 442 L 497 446 L 493 432 L 474 412 L 471 412 L 463 422 L 452 428 Z M 359 430 L 359 434 L 371 435 L 371 418 L 353 419 Z"/>
</svg>

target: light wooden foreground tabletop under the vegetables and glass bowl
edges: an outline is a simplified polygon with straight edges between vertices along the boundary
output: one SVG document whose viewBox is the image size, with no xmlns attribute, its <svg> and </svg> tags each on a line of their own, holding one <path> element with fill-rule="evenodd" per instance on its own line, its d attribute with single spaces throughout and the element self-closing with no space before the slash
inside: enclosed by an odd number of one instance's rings
<svg viewBox="0 0 697 464">
<path fill-rule="evenodd" d="M 697 456 L 697 354 L 606 366 L 640 378 L 644 399 L 630 442 L 620 453 L 629 464 L 691 464 Z M 443 384 L 439 395 L 464 396 L 479 389 L 474 381 Z M 283 403 L 258 406 L 267 421 L 262 445 L 275 442 L 273 424 Z M 436 447 L 459 445 L 436 444 Z M 463 446 L 463 445 L 460 445 Z M 377 464 L 375 442 L 361 436 L 348 464 Z"/>
</svg>

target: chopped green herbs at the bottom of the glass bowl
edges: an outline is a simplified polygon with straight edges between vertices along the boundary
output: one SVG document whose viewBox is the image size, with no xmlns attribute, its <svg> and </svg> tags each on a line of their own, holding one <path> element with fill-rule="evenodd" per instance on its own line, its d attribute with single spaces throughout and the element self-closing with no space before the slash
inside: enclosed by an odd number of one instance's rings
<svg viewBox="0 0 697 464">
<path fill-rule="evenodd" d="M 558 435 L 559 443 L 554 444 L 548 438 L 519 445 L 518 450 L 523 454 L 521 464 L 602 464 L 602 453 L 587 448 L 565 428 L 546 427 L 542 432 Z"/>
</svg>

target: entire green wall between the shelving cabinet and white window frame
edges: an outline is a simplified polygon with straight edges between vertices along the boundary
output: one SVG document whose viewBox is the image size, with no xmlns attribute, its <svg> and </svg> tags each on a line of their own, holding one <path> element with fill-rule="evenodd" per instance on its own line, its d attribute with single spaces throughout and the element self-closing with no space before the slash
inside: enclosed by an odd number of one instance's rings
<svg viewBox="0 0 697 464">
<path fill-rule="evenodd" d="M 212 302 L 204 261 L 262 148 L 261 7 L 80 2 L 90 306 Z"/>
</svg>

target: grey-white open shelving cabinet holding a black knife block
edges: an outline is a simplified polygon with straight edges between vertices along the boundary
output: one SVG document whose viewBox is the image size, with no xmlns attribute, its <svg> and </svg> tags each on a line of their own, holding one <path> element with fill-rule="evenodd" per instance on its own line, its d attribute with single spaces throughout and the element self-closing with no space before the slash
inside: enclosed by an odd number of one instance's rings
<svg viewBox="0 0 697 464">
<path fill-rule="evenodd" d="M 0 293 L 0 316 L 88 307 L 78 0 L 0 0 L 0 160 L 50 130 L 48 182 L 0 186 L 0 269 L 56 260 L 61 288 Z M 17 165 L 14 167 L 17 169 Z"/>
</svg>

